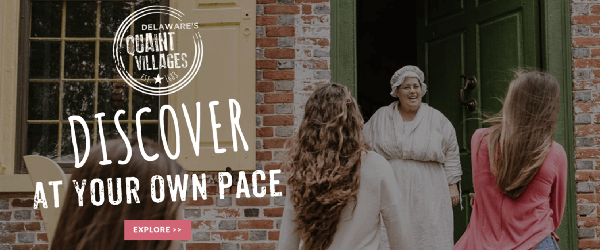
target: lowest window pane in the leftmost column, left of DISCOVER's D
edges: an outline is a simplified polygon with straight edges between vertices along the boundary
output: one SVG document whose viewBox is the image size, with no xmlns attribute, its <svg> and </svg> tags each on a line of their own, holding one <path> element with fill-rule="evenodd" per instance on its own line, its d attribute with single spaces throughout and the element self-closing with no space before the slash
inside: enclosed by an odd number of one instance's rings
<svg viewBox="0 0 600 250">
<path fill-rule="evenodd" d="M 28 124 L 27 154 L 56 158 L 58 124 Z"/>
</svg>

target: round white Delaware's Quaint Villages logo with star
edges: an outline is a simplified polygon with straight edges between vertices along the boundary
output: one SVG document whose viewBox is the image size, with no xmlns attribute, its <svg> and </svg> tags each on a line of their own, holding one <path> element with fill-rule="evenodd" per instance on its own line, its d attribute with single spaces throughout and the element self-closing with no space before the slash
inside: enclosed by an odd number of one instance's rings
<svg viewBox="0 0 600 250">
<path fill-rule="evenodd" d="M 151 21 L 160 20 L 161 14 L 179 23 Z M 113 41 L 113 59 L 119 75 L 131 88 L 148 95 L 169 95 L 184 88 L 196 76 L 204 54 L 200 33 L 193 32 L 193 50 L 178 48 L 175 51 L 173 46 L 175 39 L 185 39 L 178 38 L 179 31 L 198 28 L 198 23 L 183 22 L 183 16 L 184 13 L 174 8 L 157 5 L 136 10 L 121 23 Z M 134 35 L 128 35 L 132 30 Z M 177 74 L 175 69 L 178 72 L 187 69 L 187 72 Z"/>
</svg>

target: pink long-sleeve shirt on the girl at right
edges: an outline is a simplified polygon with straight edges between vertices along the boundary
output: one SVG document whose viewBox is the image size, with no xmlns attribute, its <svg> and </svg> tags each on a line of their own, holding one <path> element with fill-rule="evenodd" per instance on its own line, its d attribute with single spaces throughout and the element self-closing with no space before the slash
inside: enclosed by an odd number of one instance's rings
<svg viewBox="0 0 600 250">
<path fill-rule="evenodd" d="M 554 234 L 563 216 L 567 177 L 565 150 L 554 141 L 523 195 L 512 200 L 496 189 L 496 178 L 490 173 L 485 135 L 488 131 L 478 129 L 471 138 L 476 195 L 469 226 L 453 249 L 533 249 L 548 234 Z"/>
</svg>

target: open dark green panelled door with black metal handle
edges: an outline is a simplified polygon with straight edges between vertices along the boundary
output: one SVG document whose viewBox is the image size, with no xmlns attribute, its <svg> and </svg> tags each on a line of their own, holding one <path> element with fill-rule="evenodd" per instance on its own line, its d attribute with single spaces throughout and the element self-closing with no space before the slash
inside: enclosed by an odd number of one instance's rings
<svg viewBox="0 0 600 250">
<path fill-rule="evenodd" d="M 422 15 L 418 61 L 429 86 L 425 101 L 454 124 L 461 148 L 464 209 L 454 208 L 454 235 L 458 240 L 471 212 L 470 138 L 482 126 L 480 120 L 467 118 L 499 112 L 502 104 L 496 98 L 504 97 L 514 70 L 541 68 L 538 1 L 427 0 L 419 1 L 417 11 Z M 464 95 L 466 101 L 475 100 L 475 110 L 466 109 L 459 101 L 463 74 L 476 79 L 476 87 Z M 569 240 L 574 239 L 568 239 L 566 230 L 558 233 L 562 249 L 568 249 Z"/>
</svg>

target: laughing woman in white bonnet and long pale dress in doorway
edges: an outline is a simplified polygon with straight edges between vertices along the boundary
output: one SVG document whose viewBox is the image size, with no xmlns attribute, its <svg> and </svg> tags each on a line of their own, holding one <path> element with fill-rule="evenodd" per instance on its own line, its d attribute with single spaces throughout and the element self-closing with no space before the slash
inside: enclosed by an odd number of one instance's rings
<svg viewBox="0 0 600 250">
<path fill-rule="evenodd" d="M 364 126 L 365 139 L 394 170 L 409 206 L 415 249 L 452 249 L 452 206 L 460 203 L 457 183 L 463 174 L 454 126 L 421 103 L 427 85 L 418 67 L 396 71 L 390 85 L 390 95 L 398 101 L 377 110 Z"/>
</svg>

